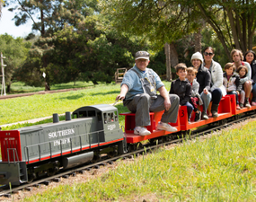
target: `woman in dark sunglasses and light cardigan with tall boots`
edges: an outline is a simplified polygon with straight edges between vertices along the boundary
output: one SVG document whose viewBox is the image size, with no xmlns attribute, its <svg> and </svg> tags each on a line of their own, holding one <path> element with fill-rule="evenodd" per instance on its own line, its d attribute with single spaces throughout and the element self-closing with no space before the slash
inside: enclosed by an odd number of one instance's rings
<svg viewBox="0 0 256 202">
<path fill-rule="evenodd" d="M 223 85 L 223 71 L 221 66 L 213 60 L 214 49 L 207 47 L 203 51 L 204 66 L 207 67 L 211 74 L 211 88 L 212 93 L 212 116 L 218 117 L 217 109 L 222 97 L 226 95 L 225 87 Z"/>
</svg>

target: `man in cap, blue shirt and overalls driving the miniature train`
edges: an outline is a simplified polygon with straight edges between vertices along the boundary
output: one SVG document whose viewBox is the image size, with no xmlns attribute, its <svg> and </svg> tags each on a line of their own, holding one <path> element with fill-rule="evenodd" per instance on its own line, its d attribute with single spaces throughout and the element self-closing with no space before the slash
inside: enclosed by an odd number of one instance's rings
<svg viewBox="0 0 256 202">
<path fill-rule="evenodd" d="M 169 123 L 176 123 L 179 110 L 179 97 L 168 94 L 160 77 L 147 68 L 149 53 L 138 51 L 135 66 L 124 75 L 121 90 L 116 100 L 122 100 L 128 110 L 136 113 L 134 134 L 147 136 L 151 134 L 145 126 L 150 126 L 149 111 L 164 110 L 157 129 L 175 132 L 177 129 Z M 156 90 L 160 95 L 156 94 Z"/>
</svg>

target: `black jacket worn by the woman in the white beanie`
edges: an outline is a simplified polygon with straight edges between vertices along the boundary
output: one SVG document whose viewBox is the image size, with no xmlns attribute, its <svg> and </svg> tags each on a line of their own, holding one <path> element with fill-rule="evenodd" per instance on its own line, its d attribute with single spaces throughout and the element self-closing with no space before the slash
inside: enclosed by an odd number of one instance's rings
<svg viewBox="0 0 256 202">
<path fill-rule="evenodd" d="M 199 83 L 199 94 L 206 88 L 210 92 L 211 88 L 211 74 L 208 69 L 201 65 L 197 74 L 197 81 Z"/>
</svg>

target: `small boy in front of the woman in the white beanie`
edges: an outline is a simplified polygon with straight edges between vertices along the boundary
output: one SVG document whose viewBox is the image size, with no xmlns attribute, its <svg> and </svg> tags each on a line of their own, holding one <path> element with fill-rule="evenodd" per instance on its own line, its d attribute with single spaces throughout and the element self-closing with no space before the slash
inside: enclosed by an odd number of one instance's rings
<svg viewBox="0 0 256 202">
<path fill-rule="evenodd" d="M 197 79 L 196 79 L 198 70 L 194 69 L 193 67 L 189 67 L 187 69 L 187 72 L 188 72 L 187 78 L 192 87 L 190 104 L 192 104 L 194 107 L 194 112 L 195 112 L 194 121 L 199 121 L 201 119 L 201 111 L 198 109 L 198 103 L 199 105 L 202 105 L 203 101 L 201 100 L 201 97 L 199 95 L 199 83 L 197 82 Z"/>
</svg>

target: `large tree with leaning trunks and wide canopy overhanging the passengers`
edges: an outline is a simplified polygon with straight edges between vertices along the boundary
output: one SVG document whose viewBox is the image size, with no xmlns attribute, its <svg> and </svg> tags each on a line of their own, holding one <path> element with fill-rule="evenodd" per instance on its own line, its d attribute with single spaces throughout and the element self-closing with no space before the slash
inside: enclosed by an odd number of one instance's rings
<svg viewBox="0 0 256 202">
<path fill-rule="evenodd" d="M 197 31 L 203 27 L 200 19 L 204 19 L 216 32 L 229 58 L 233 48 L 243 52 L 252 49 L 255 6 L 252 0 L 102 1 L 102 7 L 113 15 L 120 31 L 145 34 L 159 46 Z"/>
</svg>

